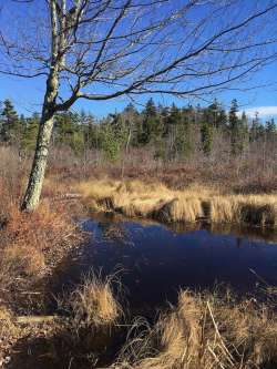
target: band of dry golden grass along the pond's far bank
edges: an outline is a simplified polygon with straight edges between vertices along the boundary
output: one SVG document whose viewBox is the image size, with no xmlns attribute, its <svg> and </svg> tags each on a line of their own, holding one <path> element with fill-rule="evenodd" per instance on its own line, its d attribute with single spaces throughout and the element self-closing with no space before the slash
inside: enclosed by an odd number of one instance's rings
<svg viewBox="0 0 277 369">
<path fill-rule="evenodd" d="M 212 223 L 277 227 L 277 195 L 228 195 L 198 185 L 174 191 L 158 183 L 109 178 L 83 182 L 76 189 L 84 203 L 98 212 L 167 223 L 206 218 Z"/>
</svg>

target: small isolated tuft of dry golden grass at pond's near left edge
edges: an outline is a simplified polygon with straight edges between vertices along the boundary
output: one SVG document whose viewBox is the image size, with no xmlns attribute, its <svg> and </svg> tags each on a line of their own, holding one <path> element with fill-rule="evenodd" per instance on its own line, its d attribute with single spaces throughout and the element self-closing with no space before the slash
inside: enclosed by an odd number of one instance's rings
<svg viewBox="0 0 277 369">
<path fill-rule="evenodd" d="M 113 277 L 101 279 L 91 273 L 71 294 L 69 307 L 76 329 L 112 325 L 122 316 L 122 308 L 112 290 L 112 280 Z"/>
</svg>

